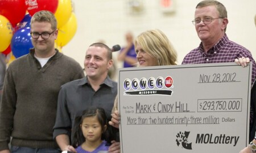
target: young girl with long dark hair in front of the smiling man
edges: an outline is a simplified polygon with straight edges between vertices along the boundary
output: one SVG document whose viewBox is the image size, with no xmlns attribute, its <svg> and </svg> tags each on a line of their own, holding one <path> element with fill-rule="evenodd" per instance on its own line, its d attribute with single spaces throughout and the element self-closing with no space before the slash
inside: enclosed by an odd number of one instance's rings
<svg viewBox="0 0 256 153">
<path fill-rule="evenodd" d="M 85 109 L 82 116 L 76 117 L 72 129 L 72 146 L 77 153 L 108 152 L 110 132 L 103 108 Z"/>
</svg>

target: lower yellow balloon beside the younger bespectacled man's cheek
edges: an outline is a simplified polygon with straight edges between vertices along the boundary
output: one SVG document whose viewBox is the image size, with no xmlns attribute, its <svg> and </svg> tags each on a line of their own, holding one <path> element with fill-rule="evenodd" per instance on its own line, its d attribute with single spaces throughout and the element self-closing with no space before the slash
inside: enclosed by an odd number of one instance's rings
<svg viewBox="0 0 256 153">
<path fill-rule="evenodd" d="M 75 36 L 77 29 L 77 20 L 75 14 L 72 12 L 68 22 L 59 28 L 59 33 L 57 39 L 55 40 L 56 44 L 60 47 L 63 47 L 68 44 L 69 41 Z"/>
</svg>

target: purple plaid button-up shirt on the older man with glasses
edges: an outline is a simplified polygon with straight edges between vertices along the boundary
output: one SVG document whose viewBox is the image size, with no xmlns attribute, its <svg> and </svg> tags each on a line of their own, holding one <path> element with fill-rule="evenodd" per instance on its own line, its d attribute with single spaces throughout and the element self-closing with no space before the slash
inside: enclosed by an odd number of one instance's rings
<svg viewBox="0 0 256 153">
<path fill-rule="evenodd" d="M 228 36 L 222 37 L 207 53 L 204 52 L 203 44 L 196 49 L 191 50 L 183 59 L 182 64 L 196 64 L 196 63 L 226 63 L 234 62 L 236 58 L 248 57 L 253 63 L 253 70 L 251 73 L 251 86 L 256 76 L 256 63 L 251 56 L 251 52 L 237 43 L 230 41 Z"/>
</svg>

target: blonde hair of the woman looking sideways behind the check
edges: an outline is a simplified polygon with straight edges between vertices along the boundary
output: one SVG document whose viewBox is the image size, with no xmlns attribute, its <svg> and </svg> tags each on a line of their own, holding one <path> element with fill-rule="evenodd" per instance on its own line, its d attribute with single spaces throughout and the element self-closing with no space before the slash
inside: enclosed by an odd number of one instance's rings
<svg viewBox="0 0 256 153">
<path fill-rule="evenodd" d="M 168 40 L 159 29 L 151 29 L 142 32 L 135 39 L 135 48 L 140 44 L 144 52 L 148 53 L 151 57 L 156 58 L 158 65 L 176 65 L 177 53 Z"/>
</svg>

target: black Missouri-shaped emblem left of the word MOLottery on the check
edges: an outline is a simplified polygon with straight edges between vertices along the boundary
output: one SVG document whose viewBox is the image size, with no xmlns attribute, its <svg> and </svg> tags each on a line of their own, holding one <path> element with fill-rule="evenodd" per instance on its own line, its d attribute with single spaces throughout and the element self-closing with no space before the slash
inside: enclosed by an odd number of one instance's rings
<svg viewBox="0 0 256 153">
<path fill-rule="evenodd" d="M 181 146 L 183 148 L 192 150 L 192 143 L 188 143 L 189 133 L 190 133 L 189 131 L 184 131 L 184 133 L 180 131 L 179 133 L 177 133 L 176 135 L 177 146 L 180 146 L 180 143 L 181 143 Z"/>
</svg>

